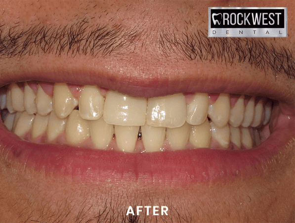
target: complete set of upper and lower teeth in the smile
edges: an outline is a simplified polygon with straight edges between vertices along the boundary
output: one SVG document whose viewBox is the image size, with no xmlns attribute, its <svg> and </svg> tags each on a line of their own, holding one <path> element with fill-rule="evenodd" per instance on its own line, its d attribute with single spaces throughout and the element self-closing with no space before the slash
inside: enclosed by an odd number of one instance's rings
<svg viewBox="0 0 295 223">
<path fill-rule="evenodd" d="M 195 93 L 190 96 L 191 101 L 187 98 L 182 93 L 135 98 L 111 90 L 104 98 L 96 86 L 84 86 L 80 98 L 76 98 L 66 84 L 55 84 L 52 100 L 40 84 L 36 95 L 27 83 L 24 90 L 13 83 L 6 94 L 0 92 L 0 108 L 13 114 L 7 115 L 4 125 L 19 136 L 31 131 L 33 141 L 40 141 L 46 133 L 45 142 L 58 140 L 107 148 L 115 133 L 117 146 L 127 152 L 134 150 L 139 128 L 146 151 L 160 151 L 163 143 L 171 149 L 184 149 L 189 144 L 195 148 L 229 148 L 230 142 L 238 148 L 251 148 L 253 141 L 260 143 L 260 138 L 249 126 L 266 125 L 271 116 L 271 102 L 264 105 L 264 100 L 260 100 L 255 105 L 254 97 L 246 106 L 244 95 L 234 106 L 225 93 L 215 102 L 207 93 Z M 242 130 L 237 128 L 241 125 Z"/>
</svg>

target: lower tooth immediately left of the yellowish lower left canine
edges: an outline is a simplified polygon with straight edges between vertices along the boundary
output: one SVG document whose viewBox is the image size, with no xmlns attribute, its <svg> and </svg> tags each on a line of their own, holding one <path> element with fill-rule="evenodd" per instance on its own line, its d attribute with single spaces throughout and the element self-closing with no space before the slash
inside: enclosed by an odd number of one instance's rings
<svg viewBox="0 0 295 223">
<path fill-rule="evenodd" d="M 48 142 L 52 142 L 58 135 L 65 131 L 67 120 L 68 118 L 58 118 L 54 111 L 50 113 L 47 126 Z"/>
</svg>

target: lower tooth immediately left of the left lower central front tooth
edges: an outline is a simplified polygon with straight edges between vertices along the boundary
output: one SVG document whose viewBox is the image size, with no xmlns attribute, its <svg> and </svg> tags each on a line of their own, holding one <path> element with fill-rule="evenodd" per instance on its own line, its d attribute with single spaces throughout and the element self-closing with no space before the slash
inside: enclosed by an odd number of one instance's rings
<svg viewBox="0 0 295 223">
<path fill-rule="evenodd" d="M 96 148 L 107 147 L 113 139 L 113 134 L 114 125 L 107 124 L 103 117 L 90 121 L 90 135 Z"/>
</svg>

